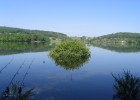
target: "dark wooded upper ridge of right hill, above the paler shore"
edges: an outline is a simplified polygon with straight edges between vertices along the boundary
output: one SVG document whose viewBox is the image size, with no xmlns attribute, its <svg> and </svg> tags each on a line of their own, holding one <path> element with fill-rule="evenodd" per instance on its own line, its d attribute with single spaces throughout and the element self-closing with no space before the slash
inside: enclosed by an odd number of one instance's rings
<svg viewBox="0 0 140 100">
<path fill-rule="evenodd" d="M 98 38 L 140 38 L 140 33 L 119 32 L 114 34 L 103 35 Z"/>
</svg>

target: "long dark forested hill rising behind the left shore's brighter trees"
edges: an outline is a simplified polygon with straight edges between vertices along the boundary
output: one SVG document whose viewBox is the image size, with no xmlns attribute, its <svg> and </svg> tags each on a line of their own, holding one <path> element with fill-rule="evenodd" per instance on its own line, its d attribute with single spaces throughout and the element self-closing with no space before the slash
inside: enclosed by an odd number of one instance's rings
<svg viewBox="0 0 140 100">
<path fill-rule="evenodd" d="M 55 38 L 61 38 L 66 37 L 66 34 L 59 33 L 59 32 L 52 32 L 52 31 L 43 31 L 43 30 L 29 30 L 29 29 L 21 29 L 21 28 L 13 28 L 13 27 L 5 27 L 0 26 L 0 34 L 4 33 L 23 33 L 23 34 L 43 34 L 48 37 L 55 37 Z"/>
</svg>

